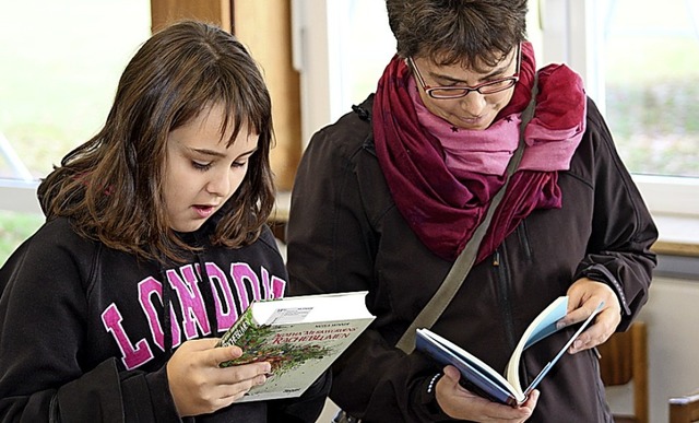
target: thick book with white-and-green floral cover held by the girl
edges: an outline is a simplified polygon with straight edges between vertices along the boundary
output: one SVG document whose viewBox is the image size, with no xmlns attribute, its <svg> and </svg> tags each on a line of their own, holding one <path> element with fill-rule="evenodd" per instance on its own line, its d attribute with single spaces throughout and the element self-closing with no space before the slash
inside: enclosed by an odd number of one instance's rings
<svg viewBox="0 0 699 423">
<path fill-rule="evenodd" d="M 366 291 L 252 302 L 223 334 L 220 346 L 242 355 L 221 367 L 269 362 L 266 381 L 240 402 L 298 397 L 374 320 Z"/>
</svg>

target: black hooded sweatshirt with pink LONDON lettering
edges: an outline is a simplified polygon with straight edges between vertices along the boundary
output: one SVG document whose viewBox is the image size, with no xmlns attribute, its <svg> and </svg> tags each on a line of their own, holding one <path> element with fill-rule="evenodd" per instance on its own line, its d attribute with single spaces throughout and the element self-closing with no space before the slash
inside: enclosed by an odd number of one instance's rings
<svg viewBox="0 0 699 423">
<path fill-rule="evenodd" d="M 201 250 L 169 266 L 81 237 L 64 218 L 22 244 L 0 269 L 0 421 L 315 421 L 324 377 L 295 400 L 178 416 L 166 374 L 173 352 L 220 337 L 250 302 L 286 291 L 269 228 L 226 248 L 208 242 L 214 224 L 183 235 Z"/>
</svg>

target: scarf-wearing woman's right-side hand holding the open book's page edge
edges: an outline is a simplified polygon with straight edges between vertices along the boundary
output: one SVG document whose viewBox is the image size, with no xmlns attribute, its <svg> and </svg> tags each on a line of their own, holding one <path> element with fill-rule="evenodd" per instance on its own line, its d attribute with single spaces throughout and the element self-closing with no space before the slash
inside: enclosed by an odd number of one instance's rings
<svg viewBox="0 0 699 423">
<path fill-rule="evenodd" d="M 568 314 L 559 325 L 569 326 L 587 319 L 604 302 L 602 312 L 570 345 L 569 353 L 589 350 L 606 341 L 621 321 L 621 306 L 616 294 L 606 283 L 588 278 L 577 280 L 568 289 Z"/>
</svg>

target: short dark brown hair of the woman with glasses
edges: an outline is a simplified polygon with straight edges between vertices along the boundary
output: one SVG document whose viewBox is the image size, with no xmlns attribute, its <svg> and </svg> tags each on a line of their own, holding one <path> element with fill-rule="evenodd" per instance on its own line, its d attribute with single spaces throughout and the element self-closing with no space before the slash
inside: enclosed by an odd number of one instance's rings
<svg viewBox="0 0 699 423">
<path fill-rule="evenodd" d="M 526 35 L 526 0 L 387 0 L 398 55 L 493 67 Z"/>
</svg>

